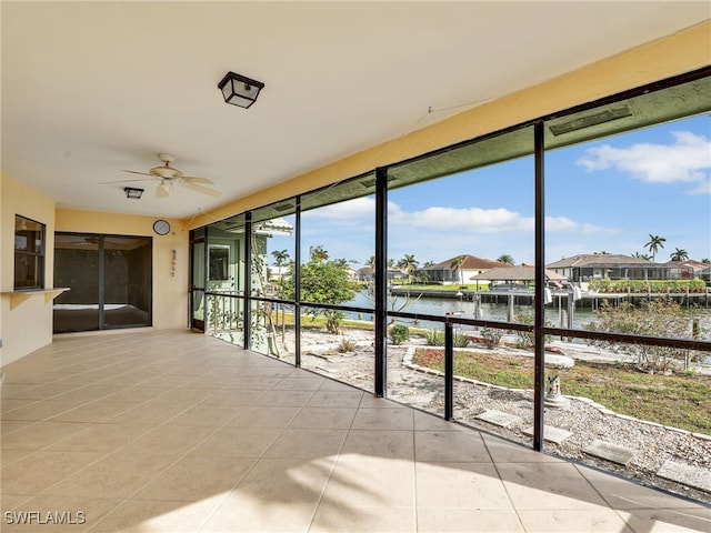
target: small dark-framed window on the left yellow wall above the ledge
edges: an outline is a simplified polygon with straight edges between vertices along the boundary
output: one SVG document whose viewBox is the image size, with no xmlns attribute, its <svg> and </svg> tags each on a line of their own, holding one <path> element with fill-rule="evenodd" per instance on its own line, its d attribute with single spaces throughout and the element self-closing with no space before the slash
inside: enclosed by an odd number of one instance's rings
<svg viewBox="0 0 711 533">
<path fill-rule="evenodd" d="M 44 288 L 44 224 L 14 217 L 14 289 Z"/>
</svg>

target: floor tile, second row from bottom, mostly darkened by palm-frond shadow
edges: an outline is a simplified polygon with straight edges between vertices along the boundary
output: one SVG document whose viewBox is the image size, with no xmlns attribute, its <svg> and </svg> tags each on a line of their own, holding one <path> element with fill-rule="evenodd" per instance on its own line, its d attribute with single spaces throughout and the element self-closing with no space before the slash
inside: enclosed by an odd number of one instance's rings
<svg viewBox="0 0 711 533">
<path fill-rule="evenodd" d="M 316 505 L 321 497 L 334 460 L 321 457 L 260 459 L 232 495 L 273 504 Z"/>
</svg>

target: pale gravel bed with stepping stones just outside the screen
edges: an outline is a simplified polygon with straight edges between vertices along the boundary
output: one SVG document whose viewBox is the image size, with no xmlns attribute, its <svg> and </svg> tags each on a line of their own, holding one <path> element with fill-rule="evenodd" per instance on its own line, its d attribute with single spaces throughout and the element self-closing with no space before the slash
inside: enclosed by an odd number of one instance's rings
<svg viewBox="0 0 711 533">
<path fill-rule="evenodd" d="M 357 348 L 353 352 L 338 351 L 341 338 L 313 332 L 302 334 L 301 365 L 344 383 L 372 390 L 374 353 L 372 333 L 349 331 L 346 336 L 356 342 Z M 388 398 L 442 415 L 444 412 L 442 376 L 410 368 L 407 364 L 408 346 L 388 346 Z M 564 393 L 564 376 L 562 380 L 561 386 Z M 477 416 L 487 410 L 502 411 L 520 420 L 508 428 L 478 420 Z M 465 425 L 530 446 L 531 436 L 524 431 L 533 426 L 533 392 L 457 380 L 454 419 Z M 668 460 L 700 466 L 711 472 L 711 438 L 619 416 L 609 411 L 605 412 L 601 405 L 589 400 L 574 398 L 570 398 L 567 409 L 547 408 L 544 420 L 547 425 L 572 433 L 560 444 L 547 441 L 544 444 L 547 453 L 597 466 L 700 502 L 711 503 L 711 492 L 657 475 Z M 594 440 L 633 450 L 634 457 L 625 467 L 588 455 L 583 449 Z"/>
</svg>

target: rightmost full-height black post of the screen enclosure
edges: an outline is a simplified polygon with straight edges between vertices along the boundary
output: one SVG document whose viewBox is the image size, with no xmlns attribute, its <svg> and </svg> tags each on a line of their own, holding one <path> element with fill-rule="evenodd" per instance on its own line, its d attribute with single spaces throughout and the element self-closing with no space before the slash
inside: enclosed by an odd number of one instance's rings
<svg viewBox="0 0 711 533">
<path fill-rule="evenodd" d="M 533 375 L 533 450 L 543 450 L 544 400 L 545 400 L 545 201 L 543 195 L 543 149 L 545 144 L 543 121 L 533 124 L 533 145 L 535 165 L 535 321 L 534 334 L 534 375 Z"/>
</svg>

